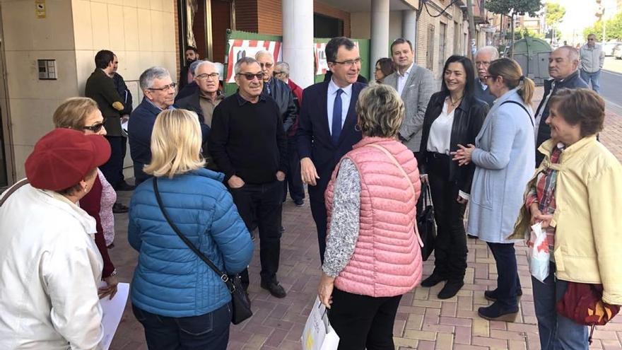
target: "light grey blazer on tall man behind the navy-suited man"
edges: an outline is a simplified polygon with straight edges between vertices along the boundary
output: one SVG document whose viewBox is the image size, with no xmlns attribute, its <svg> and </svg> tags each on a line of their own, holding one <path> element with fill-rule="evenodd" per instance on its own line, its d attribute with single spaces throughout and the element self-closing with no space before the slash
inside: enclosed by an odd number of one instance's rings
<svg viewBox="0 0 622 350">
<path fill-rule="evenodd" d="M 397 91 L 397 71 L 385 78 L 384 83 L 392 86 Z M 399 136 L 404 145 L 413 152 L 418 152 L 421 146 L 421 129 L 423 117 L 432 94 L 438 90 L 438 82 L 435 81 L 431 71 L 413 64 L 404 90 L 401 91 L 401 100 L 406 107 L 404 122 L 399 128 Z"/>
</svg>

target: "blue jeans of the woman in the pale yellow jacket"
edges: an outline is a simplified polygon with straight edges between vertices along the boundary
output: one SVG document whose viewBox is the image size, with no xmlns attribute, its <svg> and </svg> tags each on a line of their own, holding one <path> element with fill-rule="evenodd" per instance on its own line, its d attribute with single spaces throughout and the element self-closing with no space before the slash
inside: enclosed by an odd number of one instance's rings
<svg viewBox="0 0 622 350">
<path fill-rule="evenodd" d="M 544 283 L 532 277 L 541 350 L 588 350 L 587 326 L 559 315 L 555 309 L 555 304 L 568 288 L 568 282 L 555 278 L 553 262 L 548 271 Z"/>
</svg>

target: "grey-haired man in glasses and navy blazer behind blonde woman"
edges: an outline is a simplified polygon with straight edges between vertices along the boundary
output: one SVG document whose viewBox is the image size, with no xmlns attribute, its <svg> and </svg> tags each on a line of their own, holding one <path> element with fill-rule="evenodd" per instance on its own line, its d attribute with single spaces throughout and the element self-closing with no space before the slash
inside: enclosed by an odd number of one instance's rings
<svg viewBox="0 0 622 350">
<path fill-rule="evenodd" d="M 136 185 L 151 177 L 143 172 L 143 167 L 151 163 L 153 124 L 160 112 L 172 108 L 177 86 L 172 82 L 168 70 L 158 66 L 143 71 L 139 85 L 144 97 L 141 104 L 131 112 L 128 123 L 129 154 L 134 161 Z"/>
</svg>

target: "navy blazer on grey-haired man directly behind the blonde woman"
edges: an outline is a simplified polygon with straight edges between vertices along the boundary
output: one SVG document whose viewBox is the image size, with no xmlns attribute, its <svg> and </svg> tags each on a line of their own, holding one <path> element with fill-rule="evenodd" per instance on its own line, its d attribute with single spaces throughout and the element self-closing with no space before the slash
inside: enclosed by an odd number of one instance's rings
<svg viewBox="0 0 622 350">
<path fill-rule="evenodd" d="M 129 136 L 129 154 L 134 161 L 136 185 L 147 180 L 151 175 L 143 172 L 143 166 L 151 162 L 151 132 L 155 118 L 162 110 L 155 107 L 147 98 L 143 98 L 138 107 L 131 112 L 127 132 Z"/>
</svg>

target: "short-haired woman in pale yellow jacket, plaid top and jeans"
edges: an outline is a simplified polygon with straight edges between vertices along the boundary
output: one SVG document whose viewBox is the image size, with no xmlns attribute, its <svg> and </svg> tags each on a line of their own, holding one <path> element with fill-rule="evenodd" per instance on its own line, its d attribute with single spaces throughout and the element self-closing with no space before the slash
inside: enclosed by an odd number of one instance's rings
<svg viewBox="0 0 622 350">
<path fill-rule="evenodd" d="M 538 222 L 546 230 L 548 277 L 532 277 L 541 349 L 589 347 L 588 327 L 556 312 L 570 283 L 602 284 L 602 302 L 622 305 L 622 166 L 596 139 L 604 112 L 604 100 L 585 88 L 551 98 L 551 139 L 538 149 L 544 161 L 510 237 L 528 238 Z"/>
</svg>

